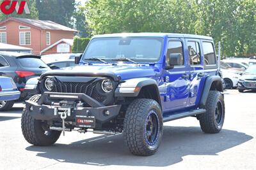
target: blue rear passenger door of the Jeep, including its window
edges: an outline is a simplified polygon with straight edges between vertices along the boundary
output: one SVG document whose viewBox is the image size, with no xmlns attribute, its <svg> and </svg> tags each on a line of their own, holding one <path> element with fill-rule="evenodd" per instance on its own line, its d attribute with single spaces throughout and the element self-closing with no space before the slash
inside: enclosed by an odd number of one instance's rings
<svg viewBox="0 0 256 170">
<path fill-rule="evenodd" d="M 190 68 L 189 106 L 194 106 L 199 98 L 198 92 L 202 89 L 202 79 L 205 77 L 200 39 L 187 39 L 187 48 Z"/>
</svg>

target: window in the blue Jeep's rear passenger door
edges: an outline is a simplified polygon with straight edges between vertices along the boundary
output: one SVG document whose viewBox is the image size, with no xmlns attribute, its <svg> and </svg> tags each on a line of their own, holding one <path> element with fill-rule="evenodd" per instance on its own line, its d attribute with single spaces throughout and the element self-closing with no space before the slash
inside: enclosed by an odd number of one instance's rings
<svg viewBox="0 0 256 170">
<path fill-rule="evenodd" d="M 190 65 L 199 65 L 201 64 L 200 59 L 200 48 L 199 43 L 195 41 L 188 42 L 188 53 L 189 53 L 189 63 Z"/>
</svg>

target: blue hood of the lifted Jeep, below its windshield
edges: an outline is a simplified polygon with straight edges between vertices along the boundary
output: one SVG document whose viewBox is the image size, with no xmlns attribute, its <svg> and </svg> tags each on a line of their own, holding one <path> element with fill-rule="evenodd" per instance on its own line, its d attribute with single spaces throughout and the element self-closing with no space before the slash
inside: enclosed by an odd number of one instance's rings
<svg viewBox="0 0 256 170">
<path fill-rule="evenodd" d="M 47 71 L 46 75 L 69 75 L 69 76 L 107 76 L 117 80 L 155 76 L 159 72 L 156 66 L 137 64 L 84 64 L 83 66 L 66 67 L 58 70 Z M 120 77 L 120 78 L 119 78 Z"/>
</svg>

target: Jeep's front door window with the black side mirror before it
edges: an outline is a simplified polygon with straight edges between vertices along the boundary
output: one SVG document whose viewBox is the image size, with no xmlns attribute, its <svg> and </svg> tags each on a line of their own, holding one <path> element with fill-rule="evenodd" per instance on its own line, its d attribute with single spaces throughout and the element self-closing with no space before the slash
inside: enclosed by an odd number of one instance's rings
<svg viewBox="0 0 256 170">
<path fill-rule="evenodd" d="M 169 41 L 166 53 L 166 65 L 183 66 L 184 55 L 181 41 Z"/>
</svg>

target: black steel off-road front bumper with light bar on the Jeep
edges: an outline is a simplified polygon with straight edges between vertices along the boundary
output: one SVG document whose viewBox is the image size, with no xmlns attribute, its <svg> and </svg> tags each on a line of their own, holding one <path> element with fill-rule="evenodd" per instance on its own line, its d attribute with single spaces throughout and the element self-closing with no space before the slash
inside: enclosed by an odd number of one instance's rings
<svg viewBox="0 0 256 170">
<path fill-rule="evenodd" d="M 64 107 L 44 104 L 45 102 L 49 103 L 50 101 L 51 103 L 51 101 L 56 101 L 56 99 L 61 101 L 81 101 L 89 104 L 91 107 Z M 60 115 L 56 114 L 56 110 L 64 109 L 70 111 L 70 115 L 68 115 L 65 121 L 76 122 L 76 117 L 86 116 L 95 117 L 96 124 L 103 124 L 119 114 L 121 105 L 103 106 L 86 94 L 45 92 L 38 103 L 26 101 L 26 108 L 31 117 L 36 120 L 61 120 Z M 106 111 L 108 111 L 108 114 L 106 114 Z"/>
</svg>

